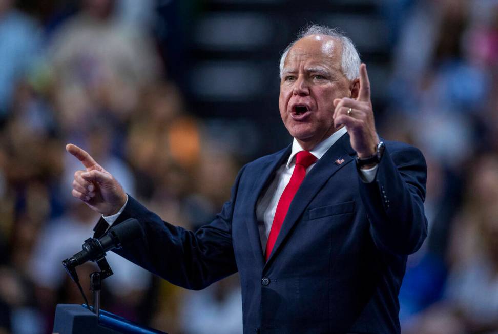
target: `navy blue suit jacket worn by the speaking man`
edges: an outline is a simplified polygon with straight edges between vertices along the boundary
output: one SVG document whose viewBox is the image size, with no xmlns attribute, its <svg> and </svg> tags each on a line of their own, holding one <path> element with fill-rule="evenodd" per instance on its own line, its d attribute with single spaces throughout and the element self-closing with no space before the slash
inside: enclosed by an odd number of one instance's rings
<svg viewBox="0 0 498 334">
<path fill-rule="evenodd" d="M 137 218 L 144 234 L 117 253 L 188 289 L 238 271 L 244 333 L 399 333 L 406 258 L 427 235 L 423 155 L 388 141 L 364 183 L 342 136 L 304 179 L 265 262 L 256 203 L 290 153 L 246 164 L 230 201 L 195 233 L 129 197 L 116 223 Z"/>
</svg>

